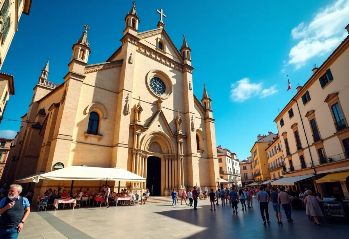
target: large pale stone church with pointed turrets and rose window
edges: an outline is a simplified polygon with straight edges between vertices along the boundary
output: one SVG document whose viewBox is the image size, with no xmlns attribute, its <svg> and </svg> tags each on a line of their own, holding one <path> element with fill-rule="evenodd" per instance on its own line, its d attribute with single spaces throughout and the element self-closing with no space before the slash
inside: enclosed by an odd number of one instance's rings
<svg viewBox="0 0 349 239">
<path fill-rule="evenodd" d="M 194 95 L 191 49 L 184 36 L 178 51 L 165 31 L 162 9 L 157 12 L 157 28 L 139 32 L 134 3 L 120 48 L 102 63 L 88 64 L 84 26 L 60 85 L 49 81 L 47 61 L 2 185 L 52 171 L 60 162 L 127 169 L 147 179 L 121 182 L 138 193 L 151 185 L 158 196 L 173 188 L 215 188 L 219 170 L 211 99 L 205 84 L 201 100 Z M 75 181 L 74 188 L 93 190 L 103 183 Z M 70 189 L 70 184 L 43 180 L 24 186 L 34 188 L 36 198 L 47 188 Z M 108 184 L 117 191 L 118 182 Z"/>
</svg>

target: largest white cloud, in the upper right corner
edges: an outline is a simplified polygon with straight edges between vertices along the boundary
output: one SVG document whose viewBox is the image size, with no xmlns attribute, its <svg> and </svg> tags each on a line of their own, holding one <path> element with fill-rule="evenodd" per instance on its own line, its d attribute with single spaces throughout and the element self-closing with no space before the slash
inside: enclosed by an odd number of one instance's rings
<svg viewBox="0 0 349 239">
<path fill-rule="evenodd" d="M 302 22 L 292 29 L 292 38 L 299 42 L 291 48 L 288 64 L 297 70 L 310 58 L 333 50 L 348 35 L 344 29 L 348 22 L 349 0 L 338 0 L 319 9 L 310 23 Z"/>
</svg>

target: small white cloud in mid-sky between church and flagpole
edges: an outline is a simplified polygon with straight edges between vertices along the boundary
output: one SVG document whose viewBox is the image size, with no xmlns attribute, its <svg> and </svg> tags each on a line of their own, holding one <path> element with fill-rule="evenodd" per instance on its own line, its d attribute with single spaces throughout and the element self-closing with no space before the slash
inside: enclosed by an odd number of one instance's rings
<svg viewBox="0 0 349 239">
<path fill-rule="evenodd" d="M 263 84 L 260 83 L 250 83 L 250 79 L 244 78 L 233 84 L 231 84 L 231 95 L 230 98 L 233 101 L 243 102 L 250 99 L 253 96 L 260 96 L 260 98 L 275 94 L 277 89 L 276 85 L 263 89 Z"/>
</svg>

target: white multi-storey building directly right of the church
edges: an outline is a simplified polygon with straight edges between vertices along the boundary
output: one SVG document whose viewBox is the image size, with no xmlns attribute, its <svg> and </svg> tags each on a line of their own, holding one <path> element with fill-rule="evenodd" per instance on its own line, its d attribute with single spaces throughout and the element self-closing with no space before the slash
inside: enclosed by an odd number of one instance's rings
<svg viewBox="0 0 349 239">
<path fill-rule="evenodd" d="M 241 186 L 240 162 L 236 158 L 236 153 L 232 153 L 229 149 L 223 149 L 222 145 L 218 145 L 217 157 L 220 177 L 230 182 L 229 185 L 221 184 L 221 187 Z"/>
</svg>

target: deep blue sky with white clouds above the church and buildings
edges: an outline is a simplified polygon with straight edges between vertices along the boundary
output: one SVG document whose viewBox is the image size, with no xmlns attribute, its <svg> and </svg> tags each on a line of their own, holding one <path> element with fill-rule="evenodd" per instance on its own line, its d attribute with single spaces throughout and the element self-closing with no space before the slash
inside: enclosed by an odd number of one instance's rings
<svg viewBox="0 0 349 239">
<path fill-rule="evenodd" d="M 49 80 L 60 84 L 67 73 L 72 45 L 88 24 L 89 64 L 105 61 L 120 46 L 132 1 L 33 1 L 22 15 L 2 72 L 15 77 L 4 118 L 20 120 L 32 88 L 50 57 Z M 214 3 L 214 4 L 213 4 Z M 258 134 L 277 132 L 273 122 L 303 85 L 312 65 L 321 65 L 347 36 L 349 0 L 338 1 L 137 1 L 139 31 L 156 28 L 162 8 L 166 31 L 179 49 L 187 37 L 192 49 L 194 93 L 202 84 L 216 119 L 216 143 L 250 156 Z M 14 137 L 20 122 L 1 122 L 0 137 Z"/>
</svg>

